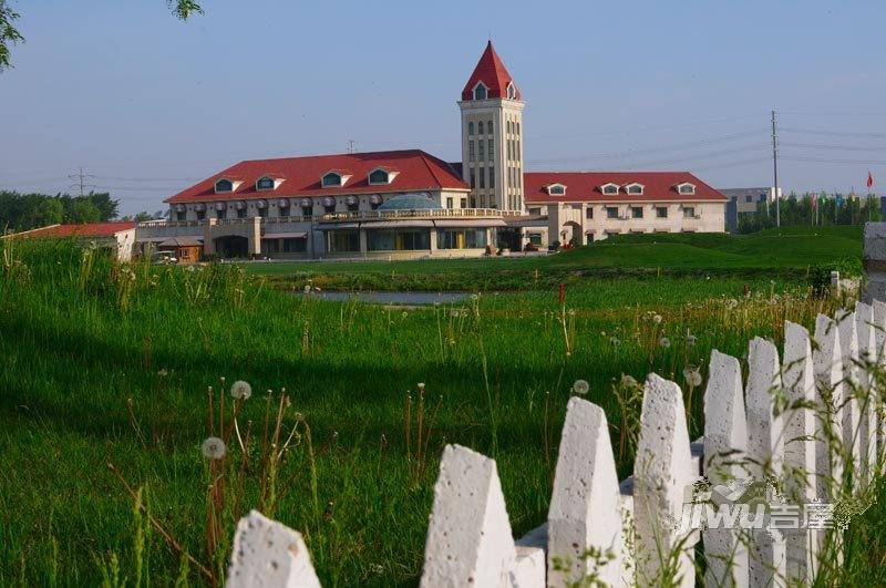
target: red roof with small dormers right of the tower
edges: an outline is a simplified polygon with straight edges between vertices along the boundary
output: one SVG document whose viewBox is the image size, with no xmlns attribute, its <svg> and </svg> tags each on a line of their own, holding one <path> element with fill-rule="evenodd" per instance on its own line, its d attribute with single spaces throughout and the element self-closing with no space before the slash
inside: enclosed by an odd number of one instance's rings
<svg viewBox="0 0 886 588">
<path fill-rule="evenodd" d="M 692 184 L 696 194 L 680 194 L 677 186 Z M 563 196 L 550 196 L 546 187 L 566 186 Z M 604 194 L 601 186 L 618 184 L 618 194 Z M 642 184 L 642 195 L 625 190 L 628 184 Z M 642 202 L 642 200 L 723 200 L 728 198 L 689 172 L 528 172 L 523 174 L 526 202 Z"/>
</svg>

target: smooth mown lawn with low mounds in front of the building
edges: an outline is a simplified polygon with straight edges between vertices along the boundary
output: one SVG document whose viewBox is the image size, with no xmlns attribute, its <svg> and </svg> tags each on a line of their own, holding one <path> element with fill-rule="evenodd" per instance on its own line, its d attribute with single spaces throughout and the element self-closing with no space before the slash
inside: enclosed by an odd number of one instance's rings
<svg viewBox="0 0 886 588">
<path fill-rule="evenodd" d="M 839 266 L 858 272 L 858 226 L 785 227 L 753 235 L 621 235 L 553 256 L 248 264 L 250 274 L 298 286 L 311 278 L 330 289 L 524 290 L 612 275 L 779 275 L 805 279 Z M 856 262 L 847 262 L 855 260 Z"/>
</svg>

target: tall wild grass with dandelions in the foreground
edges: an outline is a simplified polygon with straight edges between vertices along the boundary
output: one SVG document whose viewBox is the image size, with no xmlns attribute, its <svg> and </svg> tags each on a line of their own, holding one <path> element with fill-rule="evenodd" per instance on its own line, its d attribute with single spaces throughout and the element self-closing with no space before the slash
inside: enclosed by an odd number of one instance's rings
<svg viewBox="0 0 886 588">
<path fill-rule="evenodd" d="M 783 320 L 812 326 L 839 303 L 777 275 L 648 276 L 570 283 L 564 308 L 548 289 L 403 310 L 293 297 L 230 266 L 119 266 L 71 244 L 7 249 L 2 259 L 4 586 L 205 582 L 145 530 L 109 463 L 217 574 L 234 522 L 262 504 L 306 535 L 324 586 L 414 585 L 444 443 L 496 458 L 523 533 L 545 519 L 575 380 L 587 380 L 588 399 L 606 409 L 624 475 L 639 414 L 624 375 L 656 371 L 684 384 L 687 368 L 705 373 L 711 349 L 742 357 L 753 336 L 780 341 Z M 257 432 L 266 391 L 277 406 L 285 388 L 284 430 L 299 434 L 270 491 L 264 462 L 243 474 L 230 465 L 225 475 L 243 476 L 241 497 L 218 515 L 224 529 L 213 543 L 207 488 L 218 472 L 200 443 L 207 386 L 217 405 L 222 376 L 251 383 L 240 420 Z M 701 390 L 687 388 L 693 436 Z M 267 447 L 249 439 L 257 457 Z M 886 539 L 872 528 L 858 540 L 882 557 Z M 852 556 L 848 565 L 859 564 Z"/>
</svg>

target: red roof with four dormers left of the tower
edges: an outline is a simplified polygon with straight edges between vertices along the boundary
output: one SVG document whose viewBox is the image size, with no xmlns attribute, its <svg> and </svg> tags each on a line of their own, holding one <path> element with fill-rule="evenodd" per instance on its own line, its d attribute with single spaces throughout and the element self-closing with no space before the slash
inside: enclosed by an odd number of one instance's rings
<svg viewBox="0 0 886 588">
<path fill-rule="evenodd" d="M 385 186 L 370 185 L 369 173 L 382 167 L 396 171 Z M 256 190 L 256 180 L 277 169 L 286 180 L 274 189 Z M 322 187 L 320 179 L 330 171 L 344 171 L 351 177 L 343 186 Z M 233 193 L 216 194 L 215 183 L 236 177 L 243 183 Z M 171 204 L 229 200 L 231 198 L 280 198 L 288 196 L 334 196 L 378 192 L 421 192 L 433 189 L 468 190 L 467 184 L 446 162 L 420 149 L 315 155 L 280 159 L 240 162 L 164 202 Z"/>
</svg>

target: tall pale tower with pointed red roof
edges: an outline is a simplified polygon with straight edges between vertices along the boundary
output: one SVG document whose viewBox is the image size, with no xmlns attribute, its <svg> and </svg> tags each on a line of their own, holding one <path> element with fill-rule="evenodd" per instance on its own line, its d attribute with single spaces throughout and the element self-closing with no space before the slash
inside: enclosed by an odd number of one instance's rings
<svg viewBox="0 0 886 588">
<path fill-rule="evenodd" d="M 472 208 L 523 210 L 523 95 L 492 41 L 462 90 L 462 174 Z"/>
</svg>

